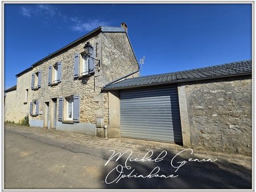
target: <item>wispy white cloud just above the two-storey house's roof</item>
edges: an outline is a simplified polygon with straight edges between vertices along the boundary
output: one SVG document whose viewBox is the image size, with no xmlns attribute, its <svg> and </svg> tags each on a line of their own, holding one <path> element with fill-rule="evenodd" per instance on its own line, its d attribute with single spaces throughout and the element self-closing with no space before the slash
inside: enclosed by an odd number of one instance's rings
<svg viewBox="0 0 256 192">
<path fill-rule="evenodd" d="M 78 18 L 71 18 L 72 22 L 75 22 L 75 24 L 71 27 L 73 31 L 79 31 L 79 32 L 85 32 L 85 31 L 91 31 L 94 28 L 97 28 L 99 26 L 106 26 L 108 25 L 108 22 L 101 22 L 100 20 L 90 20 L 89 22 L 82 23 L 80 19 Z"/>
</svg>

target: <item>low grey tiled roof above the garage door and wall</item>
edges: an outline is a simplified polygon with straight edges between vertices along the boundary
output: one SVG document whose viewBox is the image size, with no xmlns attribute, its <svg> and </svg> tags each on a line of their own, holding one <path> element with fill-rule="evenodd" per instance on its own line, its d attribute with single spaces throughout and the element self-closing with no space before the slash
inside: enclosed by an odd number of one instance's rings
<svg viewBox="0 0 256 192">
<path fill-rule="evenodd" d="M 102 90 L 129 89 L 131 87 L 172 84 L 177 82 L 207 80 L 210 78 L 241 76 L 251 74 L 251 70 L 251 60 L 237 61 L 223 65 L 208 66 L 205 68 L 183 70 L 180 72 L 127 78 L 122 81 L 113 82 L 105 85 Z"/>
</svg>

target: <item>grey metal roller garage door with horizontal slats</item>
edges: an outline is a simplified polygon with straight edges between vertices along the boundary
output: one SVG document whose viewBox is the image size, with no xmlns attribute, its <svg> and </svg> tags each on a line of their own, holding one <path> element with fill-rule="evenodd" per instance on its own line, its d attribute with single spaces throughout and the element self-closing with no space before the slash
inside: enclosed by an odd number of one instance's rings
<svg viewBox="0 0 256 192">
<path fill-rule="evenodd" d="M 120 91 L 122 137 L 182 143 L 177 87 Z"/>
</svg>

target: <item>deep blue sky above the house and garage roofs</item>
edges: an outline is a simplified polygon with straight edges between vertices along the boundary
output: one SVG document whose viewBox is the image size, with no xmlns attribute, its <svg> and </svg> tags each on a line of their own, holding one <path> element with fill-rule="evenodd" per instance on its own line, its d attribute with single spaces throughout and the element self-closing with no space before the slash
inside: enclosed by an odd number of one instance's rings
<svg viewBox="0 0 256 192">
<path fill-rule="evenodd" d="M 142 75 L 251 59 L 250 4 L 5 4 L 5 88 L 98 26 L 128 26 Z"/>
</svg>

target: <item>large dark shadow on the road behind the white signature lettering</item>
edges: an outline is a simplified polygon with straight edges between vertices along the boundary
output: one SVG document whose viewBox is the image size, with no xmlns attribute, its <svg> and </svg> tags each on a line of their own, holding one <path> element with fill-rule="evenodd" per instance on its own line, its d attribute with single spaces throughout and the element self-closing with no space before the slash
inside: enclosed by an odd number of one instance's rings
<svg viewBox="0 0 256 192">
<path fill-rule="evenodd" d="M 115 152 L 115 154 L 118 151 Z M 150 157 L 154 160 L 162 151 L 154 151 Z M 145 151 L 144 155 L 146 155 Z M 198 158 L 190 154 L 191 151 L 185 151 L 182 155 L 176 152 L 167 151 L 167 155 L 159 162 L 135 162 L 129 161 L 132 157 L 141 159 L 144 155 L 135 155 L 125 153 L 117 160 L 117 156 L 112 158 L 108 164 L 104 166 L 102 173 L 102 181 L 105 181 L 104 189 L 251 189 L 251 170 L 245 166 L 230 163 L 225 160 L 216 160 L 214 162 L 187 162 L 180 166 L 183 161 L 189 158 L 195 160 Z M 109 159 L 113 152 L 109 152 Z M 130 155 L 131 154 L 131 155 Z M 130 156 L 129 156 L 130 155 Z M 164 153 L 162 153 L 162 156 Z M 147 156 L 148 157 L 148 156 Z M 161 156 L 159 156 L 161 157 Z M 175 157 L 175 158 L 174 158 Z M 127 160 L 128 158 L 128 160 Z M 171 160 L 172 164 L 171 164 Z M 211 158 L 207 157 L 206 159 Z M 125 161 L 127 160 L 127 169 Z M 214 160 L 214 158 L 212 158 Z M 157 160 L 156 160 L 157 161 Z M 173 166 L 172 166 L 173 165 Z M 123 166 L 123 167 L 122 167 Z M 180 166 L 178 170 L 177 167 Z M 159 172 L 157 172 L 159 167 Z M 154 168 L 156 168 L 154 170 Z M 152 170 L 154 170 L 152 172 Z M 176 172 L 175 172 L 176 170 Z M 131 173 L 132 172 L 132 173 Z M 152 172 L 152 173 L 151 173 Z M 151 178 L 148 174 L 151 173 Z M 127 176 L 130 174 L 130 178 Z M 158 174 L 159 177 L 153 177 Z M 142 175 L 146 178 L 138 178 Z M 170 175 L 176 176 L 172 178 L 164 178 Z M 123 178 L 121 178 L 123 176 Z M 125 177 L 126 176 L 126 177 Z M 131 177 L 133 176 L 133 177 Z M 162 177 L 160 177 L 162 176 Z M 137 177 L 137 178 L 135 178 Z M 106 183 L 107 182 L 107 183 Z"/>
</svg>

